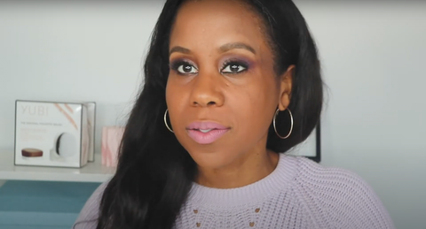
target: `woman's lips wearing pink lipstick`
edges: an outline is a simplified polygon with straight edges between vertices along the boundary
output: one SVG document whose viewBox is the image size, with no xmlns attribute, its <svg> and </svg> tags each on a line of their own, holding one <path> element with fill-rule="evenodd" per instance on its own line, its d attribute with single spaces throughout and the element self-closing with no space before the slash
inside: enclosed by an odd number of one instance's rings
<svg viewBox="0 0 426 229">
<path fill-rule="evenodd" d="M 217 139 L 226 134 L 229 129 L 229 127 L 214 122 L 193 122 L 186 127 L 189 137 L 192 138 L 193 141 L 203 145 L 217 141 Z"/>
</svg>

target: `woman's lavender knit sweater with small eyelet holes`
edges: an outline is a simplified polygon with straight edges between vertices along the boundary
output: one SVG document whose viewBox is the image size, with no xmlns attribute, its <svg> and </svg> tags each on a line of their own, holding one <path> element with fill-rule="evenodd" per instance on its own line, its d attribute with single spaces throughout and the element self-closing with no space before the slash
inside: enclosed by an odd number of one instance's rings
<svg viewBox="0 0 426 229">
<path fill-rule="evenodd" d="M 96 228 L 104 187 L 85 204 L 75 229 Z M 217 189 L 193 184 L 175 228 L 395 227 L 375 192 L 356 174 L 280 154 L 279 164 L 269 176 L 246 187 Z"/>
</svg>

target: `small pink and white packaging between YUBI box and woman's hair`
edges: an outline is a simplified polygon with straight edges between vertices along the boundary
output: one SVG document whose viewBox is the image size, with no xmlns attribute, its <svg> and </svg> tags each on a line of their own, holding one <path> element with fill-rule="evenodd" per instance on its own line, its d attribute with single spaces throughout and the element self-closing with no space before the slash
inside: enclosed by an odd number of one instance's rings
<svg viewBox="0 0 426 229">
<path fill-rule="evenodd" d="M 116 167 L 118 152 L 122 141 L 124 127 L 104 126 L 102 128 L 102 164 L 108 167 Z"/>
</svg>

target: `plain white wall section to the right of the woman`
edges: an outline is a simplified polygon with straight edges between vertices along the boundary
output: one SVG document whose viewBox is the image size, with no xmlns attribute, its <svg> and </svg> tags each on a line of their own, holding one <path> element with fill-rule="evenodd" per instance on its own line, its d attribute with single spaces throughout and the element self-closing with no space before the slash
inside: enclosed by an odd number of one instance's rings
<svg viewBox="0 0 426 229">
<path fill-rule="evenodd" d="M 329 88 L 322 164 L 367 179 L 398 228 L 425 228 L 426 3 L 333 3 L 300 4 Z"/>
</svg>

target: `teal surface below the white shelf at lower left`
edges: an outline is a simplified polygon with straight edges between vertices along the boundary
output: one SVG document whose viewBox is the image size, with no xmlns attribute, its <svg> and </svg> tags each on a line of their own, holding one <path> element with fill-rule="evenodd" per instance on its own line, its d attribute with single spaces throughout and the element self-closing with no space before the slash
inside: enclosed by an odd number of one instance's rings
<svg viewBox="0 0 426 229">
<path fill-rule="evenodd" d="M 0 229 L 69 229 L 99 185 L 7 181 L 0 187 Z"/>
</svg>

